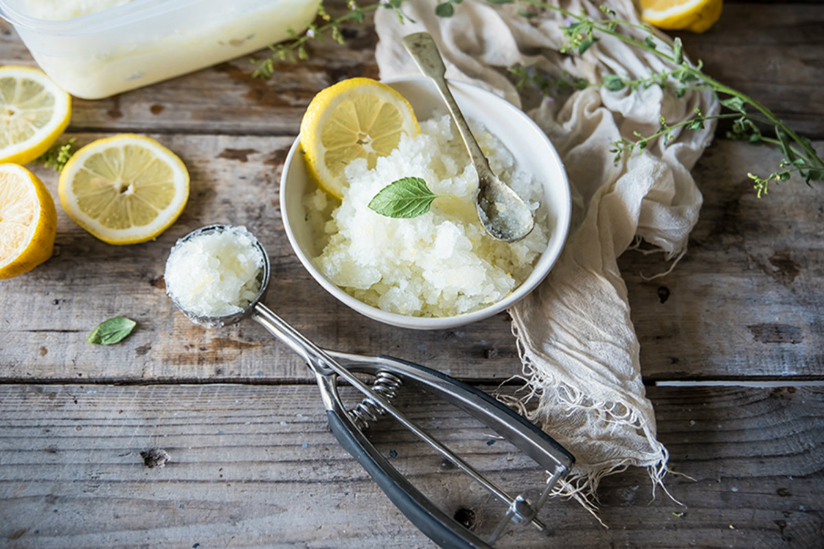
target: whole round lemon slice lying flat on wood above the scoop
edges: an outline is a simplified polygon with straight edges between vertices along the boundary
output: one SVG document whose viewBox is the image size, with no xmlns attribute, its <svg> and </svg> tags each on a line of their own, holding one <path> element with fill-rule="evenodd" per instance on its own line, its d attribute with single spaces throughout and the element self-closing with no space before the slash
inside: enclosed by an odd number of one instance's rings
<svg viewBox="0 0 824 549">
<path fill-rule="evenodd" d="M 189 171 L 160 143 L 123 133 L 89 143 L 60 174 L 63 209 L 109 244 L 152 240 L 180 216 Z"/>
</svg>

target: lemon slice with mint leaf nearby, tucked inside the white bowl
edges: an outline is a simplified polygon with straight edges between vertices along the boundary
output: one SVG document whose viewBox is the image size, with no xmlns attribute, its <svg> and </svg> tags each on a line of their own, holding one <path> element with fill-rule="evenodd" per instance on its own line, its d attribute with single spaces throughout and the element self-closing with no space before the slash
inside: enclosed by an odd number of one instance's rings
<svg viewBox="0 0 824 549">
<path fill-rule="evenodd" d="M 317 184 L 343 198 L 349 162 L 365 158 L 374 168 L 379 156 L 398 147 L 402 133 L 419 132 L 403 95 L 370 78 L 349 78 L 311 100 L 301 122 L 301 149 Z"/>
</svg>

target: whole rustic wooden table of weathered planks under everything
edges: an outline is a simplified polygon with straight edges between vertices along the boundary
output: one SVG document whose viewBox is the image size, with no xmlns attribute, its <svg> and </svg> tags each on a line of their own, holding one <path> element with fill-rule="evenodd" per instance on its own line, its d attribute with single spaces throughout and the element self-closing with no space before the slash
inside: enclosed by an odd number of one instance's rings
<svg viewBox="0 0 824 549">
<path fill-rule="evenodd" d="M 728 2 L 714 29 L 682 37 L 709 74 L 770 105 L 824 154 L 822 28 L 820 3 L 752 0 Z M 455 330 L 390 328 L 340 305 L 292 254 L 277 191 L 303 109 L 335 81 L 377 77 L 372 26 L 347 36 L 312 45 L 309 61 L 283 63 L 269 81 L 240 58 L 75 101 L 67 136 L 154 137 L 189 166 L 191 197 L 156 241 L 122 247 L 58 207 L 54 258 L 0 282 L 0 545 L 433 547 L 335 442 L 297 356 L 252 322 L 200 328 L 164 293 L 177 238 L 244 224 L 272 258 L 267 303 L 321 346 L 390 353 L 489 390 L 519 372 L 506 314 Z M 34 64 L 3 22 L 0 63 Z M 686 257 L 653 281 L 642 273 L 660 272 L 660 255 L 620 259 L 658 436 L 689 476 L 667 477 L 684 506 L 660 490 L 650 503 L 646 472 L 631 469 L 602 482 L 609 529 L 552 501 L 548 537 L 524 533 L 522 547 L 824 547 L 824 188 L 792 180 L 759 200 L 747 171 L 769 173 L 779 158 L 719 135 L 693 172 L 705 205 Z M 33 170 L 56 197 L 57 175 Z M 133 335 L 87 344 L 115 314 L 138 321 Z M 405 406 L 459 451 L 480 444 L 496 478 L 536 482 L 503 444 L 489 445 L 489 430 L 437 403 Z M 450 512 L 492 520 L 470 482 L 408 435 L 376 436 Z M 165 467 L 147 467 L 152 449 L 166 452 Z"/>
</svg>

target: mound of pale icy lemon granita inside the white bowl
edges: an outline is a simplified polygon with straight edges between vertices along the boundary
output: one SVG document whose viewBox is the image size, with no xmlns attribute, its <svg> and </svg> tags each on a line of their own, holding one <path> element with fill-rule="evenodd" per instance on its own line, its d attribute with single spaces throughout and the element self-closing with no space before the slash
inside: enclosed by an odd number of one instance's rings
<svg viewBox="0 0 824 549">
<path fill-rule="evenodd" d="M 512 154 L 497 138 L 474 124 L 473 133 L 490 166 L 536 217 L 536 227 L 526 239 L 492 239 L 478 220 L 477 176 L 452 120 L 445 116 L 420 126 L 421 133 L 400 137 L 396 150 L 378 158 L 374 169 L 363 159 L 347 165 L 349 185 L 339 205 L 321 190 L 304 198 L 317 249 L 322 250 L 314 262 L 349 295 L 391 313 L 468 313 L 513 291 L 546 249 L 543 188 L 516 169 Z M 439 195 L 429 212 L 396 219 L 368 207 L 382 188 L 405 177 L 424 179 Z"/>
</svg>

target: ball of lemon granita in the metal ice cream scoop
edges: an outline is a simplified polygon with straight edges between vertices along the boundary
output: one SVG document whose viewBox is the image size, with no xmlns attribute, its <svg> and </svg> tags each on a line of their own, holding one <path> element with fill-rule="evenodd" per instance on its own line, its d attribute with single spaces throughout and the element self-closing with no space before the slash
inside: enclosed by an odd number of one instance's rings
<svg viewBox="0 0 824 549">
<path fill-rule="evenodd" d="M 257 297 L 265 259 L 246 227 L 217 227 L 178 240 L 166 260 L 166 293 L 198 317 L 240 313 Z"/>
</svg>

